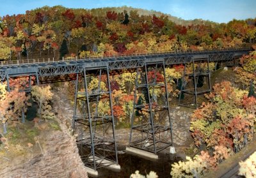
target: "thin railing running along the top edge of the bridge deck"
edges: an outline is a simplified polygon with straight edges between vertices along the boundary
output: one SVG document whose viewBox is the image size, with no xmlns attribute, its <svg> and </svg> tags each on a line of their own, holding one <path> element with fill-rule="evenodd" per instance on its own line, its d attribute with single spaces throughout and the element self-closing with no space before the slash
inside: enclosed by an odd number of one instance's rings
<svg viewBox="0 0 256 178">
<path fill-rule="evenodd" d="M 147 53 L 134 53 L 131 55 L 125 54 L 114 54 L 114 55 L 104 55 L 104 56 L 94 56 L 94 57 L 61 57 L 61 58 L 41 58 L 41 59 L 20 59 L 15 61 L 0 61 L 0 66 L 13 66 L 22 64 L 44 64 L 44 63 L 60 63 L 65 61 L 77 61 L 77 60 L 104 60 L 104 59 L 115 59 L 120 57 L 136 57 L 136 56 L 150 56 L 150 55 L 164 55 L 164 54 L 198 54 L 207 52 L 224 52 L 224 51 L 239 51 L 239 50 L 250 50 L 252 48 L 224 48 L 220 50 L 186 50 L 186 51 L 154 51 Z"/>
</svg>

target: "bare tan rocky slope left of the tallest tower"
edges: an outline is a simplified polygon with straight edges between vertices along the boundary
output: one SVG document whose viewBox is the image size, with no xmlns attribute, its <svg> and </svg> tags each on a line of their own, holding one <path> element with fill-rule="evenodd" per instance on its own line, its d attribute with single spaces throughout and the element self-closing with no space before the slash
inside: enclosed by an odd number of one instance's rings
<svg viewBox="0 0 256 178">
<path fill-rule="evenodd" d="M 84 163 L 79 156 L 76 140 L 71 137 L 67 126 L 72 121 L 72 106 L 61 91 L 54 91 L 52 108 L 57 113 L 61 131 L 45 130 L 38 126 L 40 135 L 37 143 L 27 149 L 26 155 L 2 159 L 0 156 L 0 177 L 88 177 Z M 67 109 L 68 108 L 68 109 Z M 67 124 L 68 122 L 68 124 Z M 42 147 L 42 151 L 40 149 Z M 10 152 L 12 154 L 12 152 Z"/>
</svg>

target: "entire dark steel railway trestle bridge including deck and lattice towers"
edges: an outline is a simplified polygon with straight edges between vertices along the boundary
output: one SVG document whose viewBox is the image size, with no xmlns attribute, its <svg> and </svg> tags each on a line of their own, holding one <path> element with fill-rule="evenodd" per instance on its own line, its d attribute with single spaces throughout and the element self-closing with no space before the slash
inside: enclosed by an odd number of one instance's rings
<svg viewBox="0 0 256 178">
<path fill-rule="evenodd" d="M 132 69 L 136 71 L 134 84 L 134 101 L 131 116 L 131 133 L 129 148 L 157 154 L 157 152 L 173 145 L 172 118 L 167 92 L 166 66 L 182 64 L 184 75 L 180 88 L 179 105 L 198 107 L 197 96 L 211 92 L 211 72 L 209 63 L 235 63 L 237 57 L 248 54 L 252 48 L 234 48 L 228 50 L 204 50 L 194 52 L 168 52 L 157 54 L 142 54 L 135 56 L 111 56 L 92 59 L 30 59 L 22 61 L 1 61 L 0 79 L 6 81 L 10 91 L 10 78 L 29 77 L 40 78 L 75 74 L 75 102 L 72 128 L 78 135 L 77 144 L 83 145 L 82 159 L 91 174 L 97 174 L 102 167 L 118 167 L 116 149 L 115 122 L 109 72 L 113 70 Z M 202 70 L 202 63 L 207 67 Z M 188 73 L 188 64 L 192 73 Z M 163 73 L 164 80 L 157 81 L 156 75 L 148 78 L 148 73 Z M 102 75 L 107 77 L 107 87 L 103 88 Z M 94 89 L 88 89 L 92 77 L 97 77 L 99 83 Z M 206 89 L 198 89 L 198 78 L 207 78 Z M 187 89 L 186 78 L 193 81 L 192 88 Z M 200 79 L 199 79 L 200 80 Z M 161 90 L 161 96 L 156 91 Z M 192 103 L 182 103 L 182 94 L 193 96 Z M 141 98 L 143 96 L 143 98 Z M 99 111 L 100 101 L 110 112 Z M 164 115 L 164 116 L 163 116 Z M 166 136 L 168 135 L 168 137 Z"/>
</svg>

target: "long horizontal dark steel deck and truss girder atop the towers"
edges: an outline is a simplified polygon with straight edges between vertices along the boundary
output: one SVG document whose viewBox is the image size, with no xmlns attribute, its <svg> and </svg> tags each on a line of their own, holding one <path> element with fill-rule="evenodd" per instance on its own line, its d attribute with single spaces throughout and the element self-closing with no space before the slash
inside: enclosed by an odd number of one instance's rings
<svg viewBox="0 0 256 178">
<path fill-rule="evenodd" d="M 145 63 L 164 62 L 166 66 L 173 64 L 191 63 L 192 59 L 205 59 L 209 61 L 230 61 L 235 56 L 248 54 L 251 48 L 239 48 L 231 50 L 205 50 L 195 52 L 169 52 L 157 54 L 143 54 L 136 56 L 118 56 L 92 59 L 61 59 L 61 60 L 22 60 L 22 61 L 1 61 L 0 77 L 6 80 L 9 77 L 24 76 L 27 73 L 37 73 L 39 77 L 52 75 L 65 75 L 72 73 L 81 73 L 83 68 L 99 69 L 106 68 L 109 70 L 122 70 L 130 68 L 143 67 Z"/>
</svg>

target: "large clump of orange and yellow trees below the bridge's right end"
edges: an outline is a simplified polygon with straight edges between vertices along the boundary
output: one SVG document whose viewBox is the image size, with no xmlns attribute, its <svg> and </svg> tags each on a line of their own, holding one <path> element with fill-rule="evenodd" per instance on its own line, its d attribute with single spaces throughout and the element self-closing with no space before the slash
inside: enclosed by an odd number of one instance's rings
<svg viewBox="0 0 256 178">
<path fill-rule="evenodd" d="M 222 145 L 235 152 L 252 140 L 255 124 L 256 98 L 248 98 L 247 92 L 221 82 L 207 95 L 204 103 L 191 116 L 192 136 L 195 144 L 205 144 L 208 149 Z"/>
</svg>

